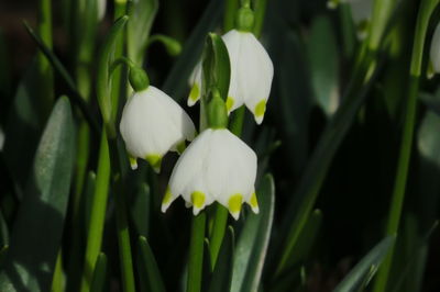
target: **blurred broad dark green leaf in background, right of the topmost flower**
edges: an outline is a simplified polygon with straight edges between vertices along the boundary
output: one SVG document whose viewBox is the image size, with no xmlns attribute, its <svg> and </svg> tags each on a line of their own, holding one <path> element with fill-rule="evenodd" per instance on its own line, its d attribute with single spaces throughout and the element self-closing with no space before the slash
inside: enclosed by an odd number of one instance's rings
<svg viewBox="0 0 440 292">
<path fill-rule="evenodd" d="M 339 59 L 337 40 L 328 16 L 317 16 L 308 43 L 311 85 L 317 103 L 327 116 L 339 105 Z"/>
</svg>

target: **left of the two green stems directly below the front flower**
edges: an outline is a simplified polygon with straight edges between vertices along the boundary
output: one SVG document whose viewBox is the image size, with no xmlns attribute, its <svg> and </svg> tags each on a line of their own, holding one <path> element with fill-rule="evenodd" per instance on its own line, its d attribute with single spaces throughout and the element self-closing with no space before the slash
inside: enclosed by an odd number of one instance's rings
<svg viewBox="0 0 440 292">
<path fill-rule="evenodd" d="M 201 272 L 204 266 L 206 213 L 201 211 L 193 217 L 191 242 L 189 245 L 187 292 L 201 291 Z"/>
</svg>

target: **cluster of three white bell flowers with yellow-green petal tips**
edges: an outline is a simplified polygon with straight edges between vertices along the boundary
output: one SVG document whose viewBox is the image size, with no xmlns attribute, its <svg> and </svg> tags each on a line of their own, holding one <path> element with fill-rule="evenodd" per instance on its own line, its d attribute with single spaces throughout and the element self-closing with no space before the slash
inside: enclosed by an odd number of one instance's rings
<svg viewBox="0 0 440 292">
<path fill-rule="evenodd" d="M 271 91 L 272 60 L 249 31 L 232 30 L 222 40 L 231 66 L 229 93 L 223 106 L 229 114 L 245 104 L 260 124 Z M 188 104 L 194 105 L 200 99 L 200 64 L 196 66 L 190 83 Z M 136 159 L 141 158 L 160 171 L 162 157 L 168 150 L 182 153 L 163 199 L 163 212 L 178 195 L 193 207 L 195 215 L 215 201 L 228 207 L 235 220 L 244 202 L 258 212 L 254 189 L 255 153 L 227 128 L 207 128 L 195 138 L 196 130 L 188 114 L 160 89 L 148 86 L 129 99 L 120 132 L 133 169 L 138 167 Z M 186 149 L 185 141 L 193 141 Z"/>
</svg>

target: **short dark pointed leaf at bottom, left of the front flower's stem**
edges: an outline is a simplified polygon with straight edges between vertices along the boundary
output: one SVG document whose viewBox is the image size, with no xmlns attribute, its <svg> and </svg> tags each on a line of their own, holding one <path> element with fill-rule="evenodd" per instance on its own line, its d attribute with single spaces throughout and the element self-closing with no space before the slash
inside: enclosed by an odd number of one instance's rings
<svg viewBox="0 0 440 292">
<path fill-rule="evenodd" d="M 162 281 L 161 272 L 157 268 L 156 260 L 154 259 L 153 251 L 150 248 L 146 238 L 143 236 L 139 237 L 138 240 L 141 260 L 142 263 L 142 272 L 144 277 L 141 277 L 142 281 L 146 281 L 145 287 L 147 287 L 147 291 L 151 292 L 164 292 L 165 287 L 164 282 Z"/>
</svg>

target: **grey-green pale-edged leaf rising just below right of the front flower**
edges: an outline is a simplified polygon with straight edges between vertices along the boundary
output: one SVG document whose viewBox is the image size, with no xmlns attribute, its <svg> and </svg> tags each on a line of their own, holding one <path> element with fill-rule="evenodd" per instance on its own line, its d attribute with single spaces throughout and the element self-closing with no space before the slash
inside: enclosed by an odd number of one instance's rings
<svg viewBox="0 0 440 292">
<path fill-rule="evenodd" d="M 264 177 L 256 195 L 260 214 L 249 214 L 240 233 L 234 251 L 232 292 L 256 291 L 261 282 L 275 205 L 275 186 L 271 175 Z"/>
</svg>

